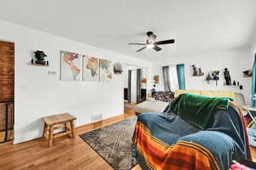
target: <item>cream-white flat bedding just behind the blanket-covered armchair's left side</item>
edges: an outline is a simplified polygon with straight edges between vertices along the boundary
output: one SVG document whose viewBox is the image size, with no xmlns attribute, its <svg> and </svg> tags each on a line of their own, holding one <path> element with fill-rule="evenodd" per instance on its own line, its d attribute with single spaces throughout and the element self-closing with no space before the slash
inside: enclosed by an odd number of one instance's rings
<svg viewBox="0 0 256 170">
<path fill-rule="evenodd" d="M 135 111 L 137 113 L 148 113 L 148 112 L 156 112 L 160 113 L 166 109 L 166 106 L 168 105 L 168 102 L 163 101 L 143 101 L 143 103 L 140 103 L 136 105 Z"/>
</svg>

